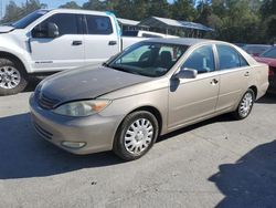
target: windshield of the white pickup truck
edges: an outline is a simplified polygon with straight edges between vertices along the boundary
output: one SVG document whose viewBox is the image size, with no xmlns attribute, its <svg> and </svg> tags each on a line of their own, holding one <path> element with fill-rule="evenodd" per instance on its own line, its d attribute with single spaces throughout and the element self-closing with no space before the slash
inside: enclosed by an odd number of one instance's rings
<svg viewBox="0 0 276 208">
<path fill-rule="evenodd" d="M 20 19 L 19 21 L 12 23 L 11 25 L 14 27 L 15 29 L 24 29 L 30 23 L 34 22 L 35 20 L 38 20 L 40 17 L 44 15 L 47 12 L 49 12 L 47 10 L 34 11 L 28 14 L 26 17 Z"/>
</svg>

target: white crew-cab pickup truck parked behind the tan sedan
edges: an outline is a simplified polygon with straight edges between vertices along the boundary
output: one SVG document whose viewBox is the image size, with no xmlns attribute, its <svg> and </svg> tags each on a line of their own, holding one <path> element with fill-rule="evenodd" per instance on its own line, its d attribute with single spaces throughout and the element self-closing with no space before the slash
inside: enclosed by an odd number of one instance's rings
<svg viewBox="0 0 276 208">
<path fill-rule="evenodd" d="M 100 63 L 138 41 L 120 37 L 110 12 L 38 10 L 0 27 L 0 95 L 23 91 L 30 75 Z"/>
</svg>

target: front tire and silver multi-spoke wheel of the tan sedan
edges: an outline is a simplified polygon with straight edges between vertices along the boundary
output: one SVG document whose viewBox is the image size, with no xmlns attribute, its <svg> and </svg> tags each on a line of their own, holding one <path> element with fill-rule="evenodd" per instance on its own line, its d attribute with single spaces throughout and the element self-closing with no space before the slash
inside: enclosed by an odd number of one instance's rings
<svg viewBox="0 0 276 208">
<path fill-rule="evenodd" d="M 158 122 L 151 113 L 134 112 L 126 116 L 117 129 L 113 150 L 124 160 L 138 159 L 153 146 L 158 134 Z"/>
</svg>

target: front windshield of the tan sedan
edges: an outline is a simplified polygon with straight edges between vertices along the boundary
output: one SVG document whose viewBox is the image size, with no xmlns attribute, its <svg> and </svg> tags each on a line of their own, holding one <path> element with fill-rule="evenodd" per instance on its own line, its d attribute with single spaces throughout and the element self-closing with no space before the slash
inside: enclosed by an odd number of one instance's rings
<svg viewBox="0 0 276 208">
<path fill-rule="evenodd" d="M 187 45 L 142 42 L 130 46 L 107 66 L 115 70 L 158 77 L 164 75 L 187 51 Z"/>
</svg>

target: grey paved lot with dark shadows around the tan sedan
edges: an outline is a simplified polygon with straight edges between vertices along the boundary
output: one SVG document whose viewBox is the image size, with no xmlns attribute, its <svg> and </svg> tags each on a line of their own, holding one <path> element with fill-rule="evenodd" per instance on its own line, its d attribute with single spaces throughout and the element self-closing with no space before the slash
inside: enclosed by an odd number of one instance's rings
<svg viewBox="0 0 276 208">
<path fill-rule="evenodd" d="M 32 89 L 30 89 L 32 91 Z M 30 92 L 0 97 L 0 207 L 275 207 L 276 96 L 159 138 L 141 159 L 75 156 L 30 123 Z"/>
</svg>

